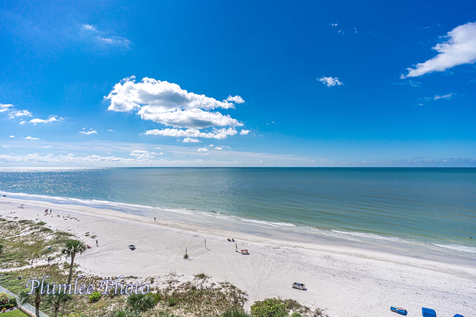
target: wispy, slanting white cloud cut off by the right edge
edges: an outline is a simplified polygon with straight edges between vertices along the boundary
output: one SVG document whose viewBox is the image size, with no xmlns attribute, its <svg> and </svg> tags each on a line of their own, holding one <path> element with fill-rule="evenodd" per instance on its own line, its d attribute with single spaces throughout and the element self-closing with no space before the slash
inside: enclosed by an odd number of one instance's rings
<svg viewBox="0 0 476 317">
<path fill-rule="evenodd" d="M 476 22 L 460 25 L 442 37 L 447 40 L 436 44 L 432 49 L 437 54 L 415 68 L 407 68 L 408 74 L 400 78 L 418 77 L 435 71 L 441 72 L 451 67 L 476 62 Z"/>
</svg>

